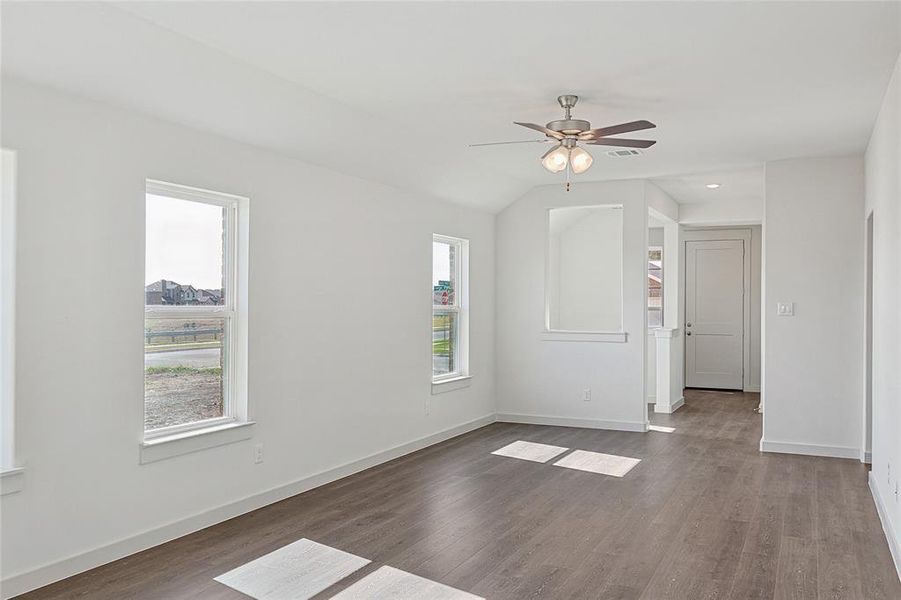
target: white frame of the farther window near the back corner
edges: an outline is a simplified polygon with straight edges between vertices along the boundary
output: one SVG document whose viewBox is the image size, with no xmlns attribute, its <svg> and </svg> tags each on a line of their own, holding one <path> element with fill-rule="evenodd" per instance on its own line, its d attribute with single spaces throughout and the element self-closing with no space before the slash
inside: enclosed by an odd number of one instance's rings
<svg viewBox="0 0 901 600">
<path fill-rule="evenodd" d="M 434 338 L 432 341 L 432 383 L 440 384 L 465 379 L 469 374 L 469 240 L 465 238 L 432 234 L 432 252 L 434 262 L 434 244 L 448 244 L 454 248 L 454 273 L 456 281 L 454 303 L 435 304 L 434 289 L 432 291 L 432 323 L 437 313 L 454 313 L 457 318 L 457 335 L 454 341 L 454 367 L 450 373 L 435 375 L 434 372 Z M 432 277 L 434 278 L 434 266 Z"/>
</svg>

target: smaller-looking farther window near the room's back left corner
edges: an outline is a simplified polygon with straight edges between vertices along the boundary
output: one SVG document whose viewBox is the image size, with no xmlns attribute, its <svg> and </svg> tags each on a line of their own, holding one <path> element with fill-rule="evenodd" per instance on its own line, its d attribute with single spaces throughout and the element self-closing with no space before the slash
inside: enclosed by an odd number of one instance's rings
<svg viewBox="0 0 901 600">
<path fill-rule="evenodd" d="M 469 375 L 467 351 L 469 242 L 432 240 L 432 380 Z"/>
</svg>

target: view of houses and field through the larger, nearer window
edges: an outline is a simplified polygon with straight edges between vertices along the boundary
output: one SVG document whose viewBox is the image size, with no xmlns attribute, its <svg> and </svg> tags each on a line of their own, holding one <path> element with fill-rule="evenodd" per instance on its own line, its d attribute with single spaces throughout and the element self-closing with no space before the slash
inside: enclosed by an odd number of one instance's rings
<svg viewBox="0 0 901 600">
<path fill-rule="evenodd" d="M 144 429 L 227 416 L 229 207 L 146 197 Z"/>
</svg>

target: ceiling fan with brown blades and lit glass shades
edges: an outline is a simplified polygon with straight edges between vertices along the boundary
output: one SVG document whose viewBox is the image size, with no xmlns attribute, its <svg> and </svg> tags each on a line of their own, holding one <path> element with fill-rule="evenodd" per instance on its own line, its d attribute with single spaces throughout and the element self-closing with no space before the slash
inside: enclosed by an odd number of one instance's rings
<svg viewBox="0 0 901 600">
<path fill-rule="evenodd" d="M 529 129 L 534 129 L 535 131 L 543 133 L 546 136 L 544 139 L 515 142 L 489 142 L 487 144 L 470 144 L 470 146 L 554 143 L 554 147 L 542 155 L 541 164 L 551 173 L 566 171 L 566 189 L 569 191 L 570 172 L 576 175 L 584 173 L 588 170 L 594 160 L 591 157 L 591 154 L 579 146 L 579 144 L 591 146 L 619 146 L 625 148 L 650 148 L 657 143 L 655 140 L 633 140 L 628 138 L 609 137 L 621 133 L 653 129 L 656 125 L 650 121 L 632 121 L 630 123 L 621 123 L 619 125 L 611 125 L 610 127 L 592 129 L 591 123 L 588 121 L 583 119 L 573 119 L 571 111 L 578 101 L 579 97 L 572 94 L 559 96 L 557 102 L 559 102 L 560 107 L 563 108 L 563 118 L 551 121 L 545 126 L 536 123 L 520 123 L 514 121 L 516 125 L 528 127 Z"/>
</svg>

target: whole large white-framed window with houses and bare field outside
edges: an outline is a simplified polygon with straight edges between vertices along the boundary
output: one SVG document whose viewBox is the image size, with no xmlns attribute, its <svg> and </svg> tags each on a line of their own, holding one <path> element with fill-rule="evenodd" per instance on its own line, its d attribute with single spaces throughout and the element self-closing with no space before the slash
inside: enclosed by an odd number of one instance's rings
<svg viewBox="0 0 901 600">
<path fill-rule="evenodd" d="M 145 438 L 246 419 L 245 202 L 147 182 Z"/>
</svg>

